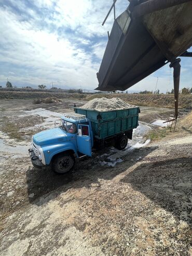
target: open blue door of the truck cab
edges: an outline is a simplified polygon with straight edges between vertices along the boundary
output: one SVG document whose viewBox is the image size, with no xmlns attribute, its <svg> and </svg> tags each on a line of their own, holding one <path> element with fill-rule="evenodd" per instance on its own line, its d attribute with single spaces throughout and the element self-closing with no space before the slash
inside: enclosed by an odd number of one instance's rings
<svg viewBox="0 0 192 256">
<path fill-rule="evenodd" d="M 78 152 L 91 156 L 91 134 L 89 125 L 78 125 L 77 149 Z"/>
</svg>

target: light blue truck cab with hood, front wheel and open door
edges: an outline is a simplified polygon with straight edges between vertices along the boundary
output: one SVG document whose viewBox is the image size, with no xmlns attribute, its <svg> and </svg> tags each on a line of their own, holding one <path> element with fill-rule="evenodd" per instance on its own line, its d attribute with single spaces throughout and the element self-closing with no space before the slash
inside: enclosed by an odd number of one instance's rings
<svg viewBox="0 0 192 256">
<path fill-rule="evenodd" d="M 36 133 L 29 154 L 33 166 L 51 166 L 57 173 L 70 171 L 75 157 L 91 156 L 93 132 L 85 115 L 65 113 L 58 127 Z"/>
</svg>

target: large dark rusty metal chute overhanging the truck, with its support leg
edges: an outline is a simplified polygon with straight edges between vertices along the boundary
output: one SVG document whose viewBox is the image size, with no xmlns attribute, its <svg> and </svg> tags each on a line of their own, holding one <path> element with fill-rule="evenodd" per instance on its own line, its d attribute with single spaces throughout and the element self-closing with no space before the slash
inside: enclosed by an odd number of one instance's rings
<svg viewBox="0 0 192 256">
<path fill-rule="evenodd" d="M 192 0 L 129 2 L 129 7 L 114 21 L 97 73 L 96 89 L 124 91 L 170 62 L 174 69 L 177 118 L 181 66 L 176 58 L 191 57 L 187 49 L 192 46 Z"/>
</svg>

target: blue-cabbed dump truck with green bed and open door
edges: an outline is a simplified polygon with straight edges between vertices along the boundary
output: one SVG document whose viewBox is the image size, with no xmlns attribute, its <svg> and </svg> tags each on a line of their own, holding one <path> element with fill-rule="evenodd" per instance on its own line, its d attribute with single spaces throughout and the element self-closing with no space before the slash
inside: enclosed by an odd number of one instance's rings
<svg viewBox="0 0 192 256">
<path fill-rule="evenodd" d="M 36 133 L 29 154 L 33 166 L 51 166 L 57 173 L 73 169 L 75 157 L 91 156 L 93 147 L 114 145 L 124 150 L 138 127 L 139 107 L 97 111 L 74 107 L 58 127 Z"/>
</svg>

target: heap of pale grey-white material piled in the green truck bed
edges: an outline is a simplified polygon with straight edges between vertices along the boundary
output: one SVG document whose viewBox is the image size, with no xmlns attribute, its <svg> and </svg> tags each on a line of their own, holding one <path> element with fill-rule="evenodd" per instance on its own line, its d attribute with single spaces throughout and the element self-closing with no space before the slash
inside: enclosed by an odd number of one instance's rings
<svg viewBox="0 0 192 256">
<path fill-rule="evenodd" d="M 82 109 L 90 109 L 97 111 L 130 109 L 131 107 L 135 106 L 130 105 L 119 98 L 95 98 L 87 102 L 85 105 L 81 106 Z"/>
</svg>

